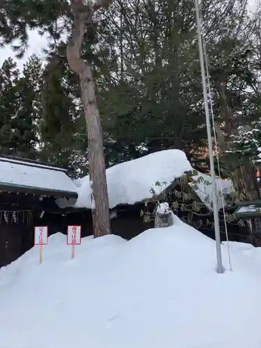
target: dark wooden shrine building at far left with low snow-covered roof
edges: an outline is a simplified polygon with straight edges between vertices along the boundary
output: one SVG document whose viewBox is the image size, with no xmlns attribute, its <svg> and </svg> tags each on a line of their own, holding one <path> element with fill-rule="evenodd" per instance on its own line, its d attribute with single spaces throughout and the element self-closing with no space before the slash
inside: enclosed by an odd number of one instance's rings
<svg viewBox="0 0 261 348">
<path fill-rule="evenodd" d="M 38 161 L 0 157 L 0 267 L 33 246 L 34 226 L 65 232 L 56 199 L 77 199 L 67 170 Z"/>
</svg>

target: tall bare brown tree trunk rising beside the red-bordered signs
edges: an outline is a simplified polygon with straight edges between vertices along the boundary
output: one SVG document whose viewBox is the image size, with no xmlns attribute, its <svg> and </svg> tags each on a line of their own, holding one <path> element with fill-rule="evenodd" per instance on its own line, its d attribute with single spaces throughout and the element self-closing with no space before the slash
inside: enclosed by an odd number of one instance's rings
<svg viewBox="0 0 261 348">
<path fill-rule="evenodd" d="M 80 79 L 81 100 L 84 104 L 84 116 L 87 125 L 90 154 L 89 174 L 94 203 L 92 207 L 94 237 L 111 233 L 111 225 L 109 219 L 102 125 L 95 95 L 95 82 L 93 81 L 90 63 L 80 58 L 80 52 L 86 25 L 92 25 L 93 13 L 106 6 L 109 6 L 109 2 L 106 0 L 97 0 L 93 8 L 85 6 L 84 0 L 71 1 L 72 14 L 74 15 L 74 29 L 67 47 L 67 58 L 70 68 Z"/>
</svg>

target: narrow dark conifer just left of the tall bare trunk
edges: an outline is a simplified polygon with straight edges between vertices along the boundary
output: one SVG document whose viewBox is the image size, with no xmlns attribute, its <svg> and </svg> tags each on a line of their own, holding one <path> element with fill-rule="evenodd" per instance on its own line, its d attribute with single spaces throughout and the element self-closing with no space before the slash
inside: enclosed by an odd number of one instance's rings
<svg viewBox="0 0 261 348">
<path fill-rule="evenodd" d="M 70 166 L 74 136 L 75 105 L 64 83 L 65 65 L 52 59 L 46 65 L 42 86 L 41 150 L 45 160 Z"/>
</svg>

